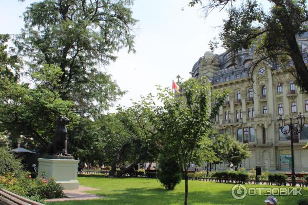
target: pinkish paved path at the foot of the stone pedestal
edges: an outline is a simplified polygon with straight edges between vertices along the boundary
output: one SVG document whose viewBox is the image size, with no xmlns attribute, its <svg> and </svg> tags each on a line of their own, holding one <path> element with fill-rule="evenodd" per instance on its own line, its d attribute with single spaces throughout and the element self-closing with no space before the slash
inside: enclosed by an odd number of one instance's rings
<svg viewBox="0 0 308 205">
<path fill-rule="evenodd" d="M 85 191 L 94 191 L 99 190 L 91 187 L 84 187 L 79 185 L 79 189 L 76 190 L 64 190 L 66 198 L 57 198 L 57 199 L 47 199 L 48 202 L 53 201 L 71 201 L 71 200 L 90 200 L 90 199 L 101 199 L 105 198 L 95 194 L 85 193 Z"/>
</svg>

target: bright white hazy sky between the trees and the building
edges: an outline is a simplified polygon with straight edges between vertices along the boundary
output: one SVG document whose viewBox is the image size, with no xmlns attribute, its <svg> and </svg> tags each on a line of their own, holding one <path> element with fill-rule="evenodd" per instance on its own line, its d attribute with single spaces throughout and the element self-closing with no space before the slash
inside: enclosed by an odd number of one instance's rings
<svg viewBox="0 0 308 205">
<path fill-rule="evenodd" d="M 0 0 L 0 33 L 18 34 L 24 25 L 22 14 L 33 0 Z M 171 87 L 180 75 L 183 80 L 196 61 L 209 51 L 209 40 L 218 37 L 224 12 L 206 19 L 200 7 L 188 7 L 189 0 L 136 0 L 131 7 L 139 22 L 134 30 L 136 53 L 122 49 L 118 59 L 104 69 L 122 90 L 128 91 L 115 106 L 131 106 L 131 100 L 156 94 L 156 85 Z M 216 50 L 215 53 L 222 53 Z M 109 112 L 115 111 L 115 106 Z"/>
</svg>

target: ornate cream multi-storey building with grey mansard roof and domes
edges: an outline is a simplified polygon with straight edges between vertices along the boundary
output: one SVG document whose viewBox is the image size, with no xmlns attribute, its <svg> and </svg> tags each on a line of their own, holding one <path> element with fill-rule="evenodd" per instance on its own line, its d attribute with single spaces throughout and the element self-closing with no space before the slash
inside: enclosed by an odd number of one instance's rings
<svg viewBox="0 0 308 205">
<path fill-rule="evenodd" d="M 300 38 L 303 58 L 307 60 L 305 36 Z M 279 64 L 261 63 L 248 79 L 252 50 L 242 50 L 236 61 L 229 53 L 220 55 L 206 52 L 192 68 L 192 77 L 206 76 L 211 89 L 228 89 L 224 105 L 214 121 L 220 133 L 228 132 L 240 143 L 247 143 L 252 156 L 243 161 L 246 169 L 261 166 L 268 170 L 291 170 L 290 134 L 281 133 L 279 114 L 297 117 L 299 112 L 308 118 L 308 95 L 301 94 L 294 77 L 284 72 Z M 293 66 L 290 63 L 288 66 Z M 288 120 L 289 119 L 289 120 Z M 308 170 L 308 150 L 302 147 L 308 141 L 308 119 L 299 135 L 295 135 L 295 170 Z M 225 169 L 226 165 L 220 165 Z"/>
</svg>

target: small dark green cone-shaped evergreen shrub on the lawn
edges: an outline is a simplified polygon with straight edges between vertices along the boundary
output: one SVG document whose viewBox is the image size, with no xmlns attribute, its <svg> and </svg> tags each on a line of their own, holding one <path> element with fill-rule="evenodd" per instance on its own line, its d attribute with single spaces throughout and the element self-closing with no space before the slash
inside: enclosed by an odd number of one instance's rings
<svg viewBox="0 0 308 205">
<path fill-rule="evenodd" d="M 177 157 L 172 153 L 168 153 L 167 148 L 165 148 L 159 155 L 158 163 L 158 179 L 166 190 L 174 190 L 182 179 Z"/>
</svg>

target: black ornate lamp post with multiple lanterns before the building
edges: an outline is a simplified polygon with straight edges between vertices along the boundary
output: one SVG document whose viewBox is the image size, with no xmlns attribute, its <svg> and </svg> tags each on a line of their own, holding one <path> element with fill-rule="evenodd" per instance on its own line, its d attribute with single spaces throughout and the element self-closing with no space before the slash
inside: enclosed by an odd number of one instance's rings
<svg viewBox="0 0 308 205">
<path fill-rule="evenodd" d="M 295 128 L 294 124 L 292 124 L 292 117 L 290 117 L 290 124 L 288 125 L 289 129 L 283 130 L 285 126 L 285 118 L 282 115 L 280 115 L 278 118 L 279 128 L 281 129 L 281 132 L 283 134 L 288 134 L 290 132 L 291 134 L 292 187 L 295 187 L 296 185 L 295 169 L 294 169 L 294 149 L 293 149 L 294 133 L 296 134 L 301 133 L 305 124 L 305 117 L 303 114 L 301 114 L 301 112 L 297 115 L 297 122 L 298 122 L 298 128 Z"/>
</svg>

